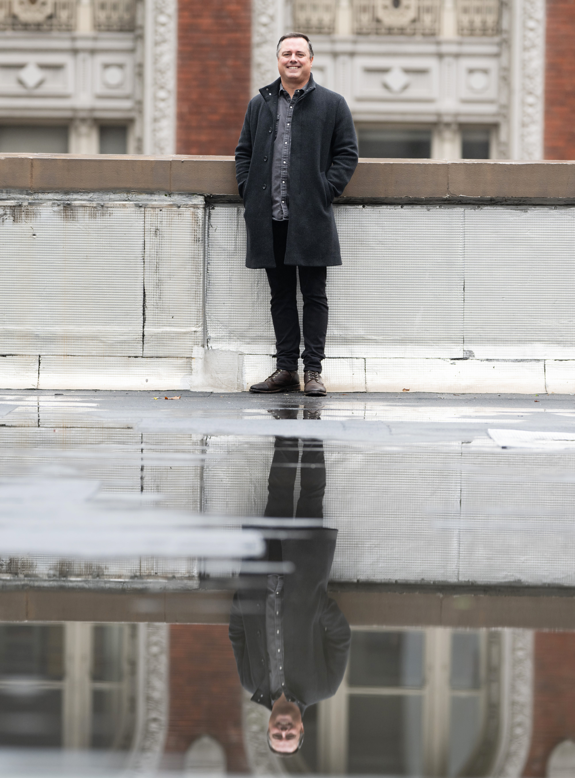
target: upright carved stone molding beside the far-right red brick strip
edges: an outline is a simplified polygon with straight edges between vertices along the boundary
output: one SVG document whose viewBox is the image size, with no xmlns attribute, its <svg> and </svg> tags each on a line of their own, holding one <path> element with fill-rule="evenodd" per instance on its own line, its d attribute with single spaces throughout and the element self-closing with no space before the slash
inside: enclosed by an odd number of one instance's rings
<svg viewBox="0 0 575 778">
<path fill-rule="evenodd" d="M 523 0 L 521 52 L 521 157 L 543 157 L 545 0 Z"/>
</svg>

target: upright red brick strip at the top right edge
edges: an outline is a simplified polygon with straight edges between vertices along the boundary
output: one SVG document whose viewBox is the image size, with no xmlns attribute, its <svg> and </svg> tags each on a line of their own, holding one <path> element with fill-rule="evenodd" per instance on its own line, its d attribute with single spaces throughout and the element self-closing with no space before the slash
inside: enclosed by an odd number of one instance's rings
<svg viewBox="0 0 575 778">
<path fill-rule="evenodd" d="M 545 159 L 575 159 L 575 0 L 547 0 Z"/>
</svg>

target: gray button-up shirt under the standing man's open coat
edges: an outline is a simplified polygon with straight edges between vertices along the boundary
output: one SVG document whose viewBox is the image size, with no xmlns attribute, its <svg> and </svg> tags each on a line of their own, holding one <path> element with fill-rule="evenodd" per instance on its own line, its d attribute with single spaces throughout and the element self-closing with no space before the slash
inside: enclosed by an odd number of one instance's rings
<svg viewBox="0 0 575 778">
<path fill-rule="evenodd" d="M 289 153 L 292 148 L 293 107 L 309 83 L 302 89 L 296 89 L 291 100 L 286 90 L 279 87 L 272 161 L 272 219 L 278 222 L 289 219 Z"/>
</svg>

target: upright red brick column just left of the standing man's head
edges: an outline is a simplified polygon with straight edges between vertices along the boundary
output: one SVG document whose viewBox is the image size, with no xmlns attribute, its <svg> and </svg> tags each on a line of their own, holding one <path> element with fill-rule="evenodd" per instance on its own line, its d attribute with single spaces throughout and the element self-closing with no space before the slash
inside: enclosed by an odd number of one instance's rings
<svg viewBox="0 0 575 778">
<path fill-rule="evenodd" d="M 250 77 L 250 0 L 180 0 L 178 154 L 233 154 Z"/>
</svg>

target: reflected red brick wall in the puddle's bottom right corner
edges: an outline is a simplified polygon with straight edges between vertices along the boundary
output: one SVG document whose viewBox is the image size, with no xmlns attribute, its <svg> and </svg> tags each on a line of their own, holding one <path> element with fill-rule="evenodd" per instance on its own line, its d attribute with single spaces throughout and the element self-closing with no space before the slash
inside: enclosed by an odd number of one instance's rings
<svg viewBox="0 0 575 778">
<path fill-rule="evenodd" d="M 575 739 L 575 633 L 535 633 L 534 671 L 533 734 L 523 774 L 540 778 L 553 748 Z"/>
</svg>

